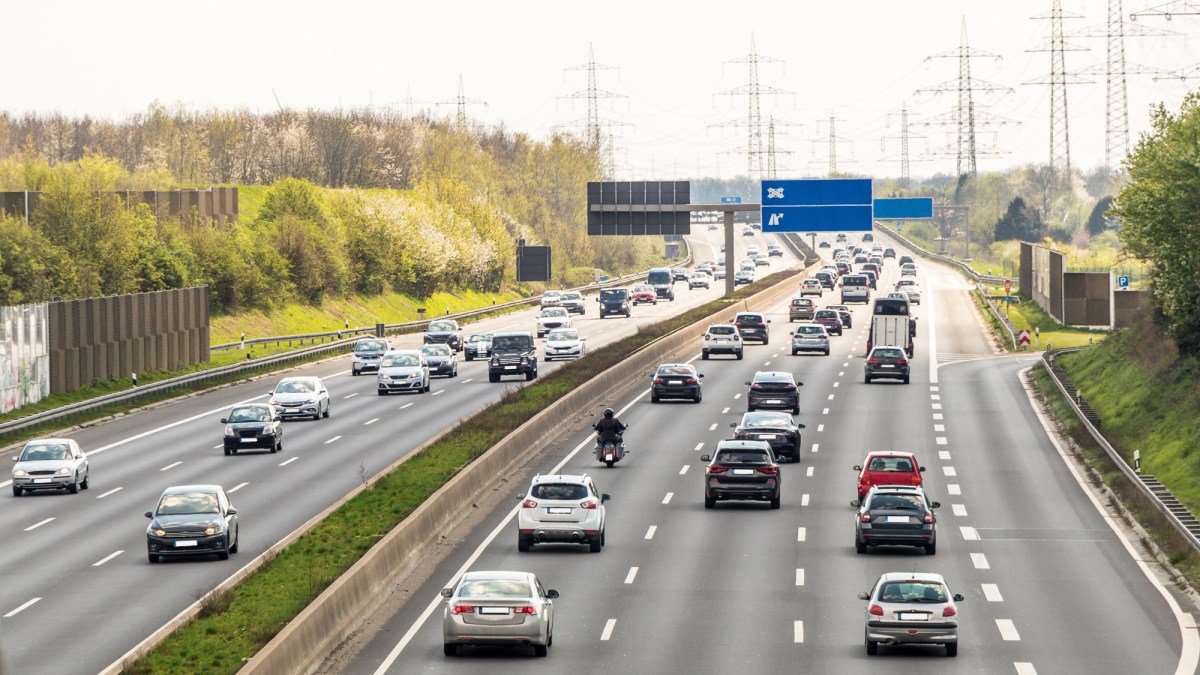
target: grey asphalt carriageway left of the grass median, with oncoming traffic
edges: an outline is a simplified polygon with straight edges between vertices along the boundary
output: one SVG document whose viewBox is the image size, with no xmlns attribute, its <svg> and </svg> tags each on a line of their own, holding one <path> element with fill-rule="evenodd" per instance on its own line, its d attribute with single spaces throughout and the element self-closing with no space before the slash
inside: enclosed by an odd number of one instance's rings
<svg viewBox="0 0 1200 675">
<path fill-rule="evenodd" d="M 716 257 L 720 231 L 697 228 L 697 259 Z M 737 238 L 738 251 L 768 237 Z M 796 264 L 773 258 L 770 271 Z M 677 300 L 634 309 L 634 317 L 598 318 L 592 301 L 575 324 L 589 348 L 634 333 L 638 325 L 720 295 L 676 286 Z M 589 297 L 589 300 L 592 298 Z M 535 310 L 464 327 L 464 334 L 533 330 Z M 420 335 L 391 339 L 415 347 Z M 558 363 L 541 362 L 542 374 Z M 166 625 L 206 591 L 336 502 L 371 476 L 464 414 L 523 384 L 487 382 L 486 363 L 460 363 L 458 377 L 434 380 L 421 395 L 376 396 L 374 377 L 350 377 L 349 356 L 294 369 L 320 376 L 331 417 L 288 422 L 281 454 L 221 450 L 222 412 L 266 400 L 281 375 L 187 396 L 78 429 L 89 453 L 90 489 L 78 495 L 7 496 L 0 508 L 0 670 L 20 674 L 98 673 Z M 17 450 L 10 454 L 16 455 Z M 241 524 L 240 551 L 150 565 L 143 513 L 168 485 L 217 483 L 230 492 Z M 250 655 L 247 655 L 250 656 Z"/>
</svg>

